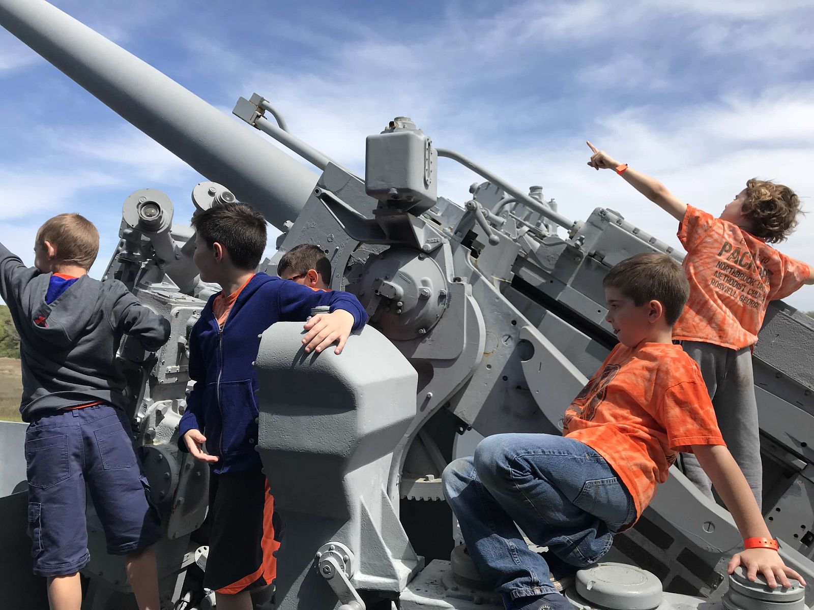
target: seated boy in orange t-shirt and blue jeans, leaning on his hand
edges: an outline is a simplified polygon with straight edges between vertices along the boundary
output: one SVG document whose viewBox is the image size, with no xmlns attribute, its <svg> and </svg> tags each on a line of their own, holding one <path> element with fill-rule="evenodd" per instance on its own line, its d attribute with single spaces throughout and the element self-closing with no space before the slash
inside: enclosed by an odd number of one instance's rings
<svg viewBox="0 0 814 610">
<path fill-rule="evenodd" d="M 786 574 L 799 575 L 768 542 L 698 365 L 672 343 L 689 294 L 681 266 L 667 255 L 636 255 L 603 284 L 619 344 L 567 408 L 563 436 L 495 434 L 474 458 L 444 470 L 444 493 L 480 576 L 506 608 L 573 610 L 549 581 L 549 563 L 573 570 L 599 560 L 667 480 L 676 452 L 694 451 L 745 538 L 729 572 L 743 564 L 751 580 L 759 570 L 770 586 L 789 586 Z M 549 547 L 546 559 L 529 550 L 515 523 Z"/>
</svg>

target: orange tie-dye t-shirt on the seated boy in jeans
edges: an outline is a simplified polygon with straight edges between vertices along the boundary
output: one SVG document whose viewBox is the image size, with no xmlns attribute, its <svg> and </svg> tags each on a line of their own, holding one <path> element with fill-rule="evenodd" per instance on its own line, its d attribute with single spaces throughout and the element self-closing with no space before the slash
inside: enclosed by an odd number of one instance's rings
<svg viewBox="0 0 814 610">
<path fill-rule="evenodd" d="M 670 343 L 616 345 L 567 408 L 562 435 L 605 458 L 630 492 L 637 519 L 678 453 L 726 444 L 701 369 Z"/>
</svg>

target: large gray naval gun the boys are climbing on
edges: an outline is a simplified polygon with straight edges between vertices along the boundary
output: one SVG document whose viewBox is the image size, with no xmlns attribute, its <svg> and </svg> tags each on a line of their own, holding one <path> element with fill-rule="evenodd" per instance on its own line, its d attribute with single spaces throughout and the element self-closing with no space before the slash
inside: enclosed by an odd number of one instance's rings
<svg viewBox="0 0 814 610">
<path fill-rule="evenodd" d="M 282 230 L 278 254 L 261 271 L 274 273 L 292 246 L 316 243 L 333 268 L 330 287 L 357 294 L 370 314 L 370 328 L 340 357 L 304 357 L 299 325 L 274 325 L 260 342 L 257 450 L 287 529 L 275 607 L 500 608 L 455 544 L 444 510 L 440 473 L 456 439 L 470 429 L 556 433 L 564 407 L 615 343 L 602 277 L 639 252 L 680 254 L 603 207 L 584 221 L 562 216 L 540 187 L 521 190 L 434 146 L 408 117 L 368 137 L 365 175 L 357 176 L 292 134 L 262 96 L 239 99 L 234 115 L 314 171 L 44 0 L 0 0 L 0 24 L 201 172 L 208 182 L 195 185 L 196 209 L 239 198 Z M 482 178 L 466 202 L 438 196 L 439 159 Z M 138 190 L 125 200 L 104 273 L 172 325 L 159 353 L 125 341 L 117 361 L 163 518 L 163 599 L 186 610 L 213 603 L 200 586 L 208 471 L 176 447 L 187 338 L 217 290 L 197 277 L 194 242 L 188 224 L 173 223 L 166 195 Z M 764 517 L 786 563 L 814 583 L 812 340 L 812 320 L 772 303 L 754 368 Z M 294 379 L 325 388 L 330 400 L 315 404 Z M 2 533 L 3 567 L 18 566 L 13 581 L 0 571 L 0 595 L 14 608 L 37 607 L 29 589 L 42 587 L 19 568 L 28 553 L 19 518 L 22 429 L 0 427 L 0 512 L 14 529 Z M 104 552 L 90 504 L 88 523 L 85 607 L 125 607 L 123 566 Z M 611 563 L 580 573 L 567 595 L 576 607 L 619 610 L 812 603 L 812 586 L 772 593 L 725 577 L 725 558 L 740 544 L 729 513 L 673 469 L 637 526 L 616 538 Z"/>
</svg>

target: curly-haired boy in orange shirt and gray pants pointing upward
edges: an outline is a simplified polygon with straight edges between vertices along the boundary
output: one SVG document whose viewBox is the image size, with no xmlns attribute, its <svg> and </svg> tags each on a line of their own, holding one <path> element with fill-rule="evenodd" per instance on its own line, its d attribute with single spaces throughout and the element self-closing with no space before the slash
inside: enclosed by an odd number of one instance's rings
<svg viewBox="0 0 814 610">
<path fill-rule="evenodd" d="M 681 202 L 664 185 L 597 150 L 593 168 L 614 168 L 628 184 L 680 222 L 689 301 L 673 338 L 701 367 L 724 441 L 762 505 L 763 464 L 751 351 L 768 302 L 814 284 L 811 268 L 768 243 L 797 225 L 799 199 L 787 186 L 750 180 L 719 218 Z M 693 455 L 681 455 L 690 481 L 712 499 L 709 477 Z"/>
</svg>

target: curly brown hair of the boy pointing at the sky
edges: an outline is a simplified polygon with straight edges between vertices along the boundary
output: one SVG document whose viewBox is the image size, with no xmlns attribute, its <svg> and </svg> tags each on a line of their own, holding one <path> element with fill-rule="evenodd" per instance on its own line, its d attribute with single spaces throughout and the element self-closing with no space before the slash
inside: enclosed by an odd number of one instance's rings
<svg viewBox="0 0 814 610">
<path fill-rule="evenodd" d="M 786 185 L 752 178 L 746 181 L 746 201 L 741 208 L 751 220 L 755 237 L 782 242 L 797 226 L 800 200 Z"/>
</svg>

